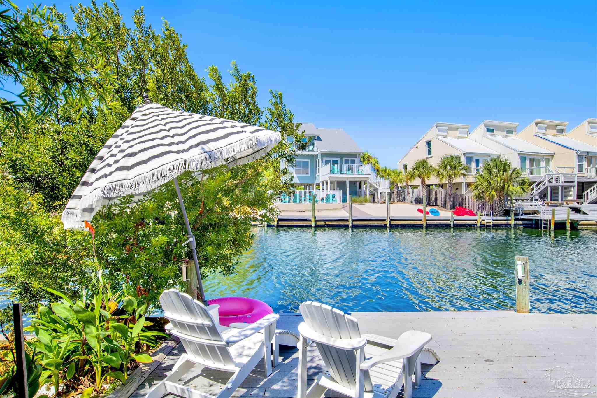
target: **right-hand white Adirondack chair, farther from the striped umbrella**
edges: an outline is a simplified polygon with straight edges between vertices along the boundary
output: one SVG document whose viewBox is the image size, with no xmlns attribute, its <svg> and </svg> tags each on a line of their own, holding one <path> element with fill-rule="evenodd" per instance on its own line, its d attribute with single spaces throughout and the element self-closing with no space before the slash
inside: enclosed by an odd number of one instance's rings
<svg viewBox="0 0 597 398">
<path fill-rule="evenodd" d="M 304 322 L 298 326 L 300 341 L 298 396 L 321 397 L 330 388 L 353 398 L 395 398 L 404 384 L 404 397 L 412 396 L 411 377 L 420 380 L 418 356 L 431 335 L 404 332 L 398 340 L 361 335 L 356 319 L 325 304 L 301 304 Z M 327 372 L 319 374 L 307 391 L 307 340 L 315 342 Z M 388 349 L 388 341 L 395 343 Z M 375 345 L 377 343 L 378 345 Z"/>
</svg>

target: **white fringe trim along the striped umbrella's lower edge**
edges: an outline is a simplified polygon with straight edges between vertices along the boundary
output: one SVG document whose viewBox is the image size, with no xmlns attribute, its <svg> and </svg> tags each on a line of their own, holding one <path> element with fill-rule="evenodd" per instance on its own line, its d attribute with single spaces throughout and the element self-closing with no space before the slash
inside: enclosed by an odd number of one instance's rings
<svg viewBox="0 0 597 398">
<path fill-rule="evenodd" d="M 166 167 L 159 168 L 156 171 L 149 172 L 140 177 L 135 177 L 133 180 L 101 187 L 101 189 L 97 189 L 90 195 L 85 195 L 81 198 L 79 208 L 96 208 L 96 203 L 103 198 L 122 197 L 155 189 L 168 181 L 173 180 L 174 177 L 183 174 L 183 172 L 201 171 L 221 166 L 226 164 L 226 159 L 233 158 L 233 156 L 238 155 L 245 150 L 259 147 L 260 149 L 257 150 L 256 153 L 247 156 L 247 158 L 243 158 L 245 162 L 252 162 L 263 156 L 262 150 L 264 148 L 275 145 L 279 141 L 280 133 L 273 132 L 261 137 L 246 138 L 233 145 L 202 153 L 201 155 L 193 156 L 193 158 L 180 159 Z M 93 213 L 95 213 L 95 211 Z M 82 210 L 72 209 L 64 209 L 60 219 L 64 224 L 64 229 L 76 230 L 84 230 L 84 221 L 91 221 L 84 219 Z"/>
</svg>

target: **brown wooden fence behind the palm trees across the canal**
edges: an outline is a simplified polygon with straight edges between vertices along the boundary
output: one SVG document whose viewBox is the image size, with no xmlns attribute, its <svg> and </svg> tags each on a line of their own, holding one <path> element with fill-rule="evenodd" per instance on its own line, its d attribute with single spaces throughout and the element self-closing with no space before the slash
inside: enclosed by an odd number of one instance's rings
<svg viewBox="0 0 597 398">
<path fill-rule="evenodd" d="M 395 202 L 410 202 L 416 203 L 417 205 L 423 204 L 423 189 L 418 187 L 417 189 L 410 189 L 410 195 L 406 188 L 398 189 L 398 195 L 395 195 L 394 190 L 390 190 L 390 195 Z M 428 206 L 439 206 L 448 208 L 448 196 L 450 194 L 447 190 L 441 188 L 427 188 L 427 205 Z M 470 194 L 463 193 L 452 193 L 452 205 L 451 209 L 456 206 L 466 207 L 475 212 L 480 211 L 481 214 L 487 215 L 490 211 L 496 212 L 496 203 L 488 203 L 485 200 L 474 199 Z"/>
</svg>

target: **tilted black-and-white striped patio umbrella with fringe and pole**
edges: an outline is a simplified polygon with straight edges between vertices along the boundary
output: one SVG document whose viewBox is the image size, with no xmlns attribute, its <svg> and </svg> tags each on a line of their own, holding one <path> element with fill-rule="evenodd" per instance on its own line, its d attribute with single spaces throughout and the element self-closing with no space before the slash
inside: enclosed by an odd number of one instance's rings
<svg viewBox="0 0 597 398">
<path fill-rule="evenodd" d="M 143 193 L 173 180 L 189 234 L 201 300 L 205 294 L 195 236 L 180 195 L 177 176 L 219 165 L 244 164 L 267 153 L 281 137 L 261 127 L 181 112 L 149 101 L 134 110 L 91 162 L 62 212 L 64 229 L 84 229 L 101 206 Z"/>
</svg>

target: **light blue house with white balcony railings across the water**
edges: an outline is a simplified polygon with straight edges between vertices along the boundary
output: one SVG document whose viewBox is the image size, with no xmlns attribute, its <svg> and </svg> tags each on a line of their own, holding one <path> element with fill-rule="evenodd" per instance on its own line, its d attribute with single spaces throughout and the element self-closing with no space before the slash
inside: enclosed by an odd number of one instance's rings
<svg viewBox="0 0 597 398">
<path fill-rule="evenodd" d="M 294 167 L 289 165 L 294 184 L 301 187 L 295 194 L 297 198 L 300 194 L 304 200 L 303 196 L 315 193 L 324 200 L 329 198 L 327 193 L 333 193 L 338 200 L 341 197 L 341 201 L 346 202 L 347 193 L 351 196 L 377 194 L 374 197 L 379 198 L 379 192 L 389 192 L 389 180 L 377 177 L 370 165 L 361 164 L 362 149 L 343 129 L 316 128 L 312 123 L 303 123 L 300 130 L 312 141 L 296 154 Z M 280 168 L 283 167 L 281 162 Z"/>
</svg>

